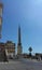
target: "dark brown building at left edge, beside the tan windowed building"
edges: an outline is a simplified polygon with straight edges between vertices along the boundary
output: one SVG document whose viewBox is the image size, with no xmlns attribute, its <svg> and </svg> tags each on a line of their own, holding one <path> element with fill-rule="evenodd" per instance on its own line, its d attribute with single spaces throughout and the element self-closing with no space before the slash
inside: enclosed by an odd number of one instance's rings
<svg viewBox="0 0 42 70">
<path fill-rule="evenodd" d="M 0 61 L 6 61 L 8 57 L 5 54 L 4 43 L 0 42 Z"/>
</svg>

